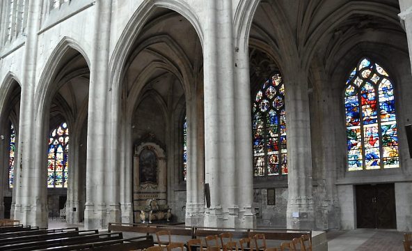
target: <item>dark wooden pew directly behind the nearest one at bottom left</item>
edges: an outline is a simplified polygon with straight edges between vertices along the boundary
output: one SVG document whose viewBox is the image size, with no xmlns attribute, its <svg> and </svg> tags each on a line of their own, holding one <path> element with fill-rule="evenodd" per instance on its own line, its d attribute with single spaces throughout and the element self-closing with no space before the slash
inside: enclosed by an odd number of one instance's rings
<svg viewBox="0 0 412 251">
<path fill-rule="evenodd" d="M 14 251 L 30 251 L 45 248 L 61 247 L 62 245 L 79 245 L 88 243 L 97 243 L 102 241 L 114 241 L 123 238 L 121 232 L 106 233 L 106 234 L 91 234 L 87 236 L 74 236 L 57 238 L 47 241 L 31 241 L 26 243 L 15 243 L 0 247 L 0 250 L 14 250 Z"/>
</svg>

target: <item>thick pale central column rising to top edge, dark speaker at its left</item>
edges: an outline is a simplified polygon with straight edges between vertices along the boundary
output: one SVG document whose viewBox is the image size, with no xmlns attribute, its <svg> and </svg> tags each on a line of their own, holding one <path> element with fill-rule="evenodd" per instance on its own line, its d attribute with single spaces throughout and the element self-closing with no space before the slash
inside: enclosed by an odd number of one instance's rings
<svg viewBox="0 0 412 251">
<path fill-rule="evenodd" d="M 206 1 L 205 8 L 205 170 L 211 197 L 205 225 L 234 227 L 239 206 L 233 177 L 237 170 L 232 1 Z"/>
</svg>

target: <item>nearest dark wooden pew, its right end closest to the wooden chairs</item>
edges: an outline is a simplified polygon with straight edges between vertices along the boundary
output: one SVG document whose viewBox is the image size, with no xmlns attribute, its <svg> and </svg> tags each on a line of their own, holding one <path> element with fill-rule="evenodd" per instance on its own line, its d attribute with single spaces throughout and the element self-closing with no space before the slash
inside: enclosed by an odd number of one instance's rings
<svg viewBox="0 0 412 251">
<path fill-rule="evenodd" d="M 114 241 L 100 241 L 96 243 L 78 244 L 78 245 L 61 245 L 54 248 L 39 249 L 38 251 L 46 250 L 98 250 L 98 251 L 129 251 L 129 250 L 143 250 L 152 247 L 152 236 L 138 236 L 134 238 L 126 238 Z"/>
</svg>

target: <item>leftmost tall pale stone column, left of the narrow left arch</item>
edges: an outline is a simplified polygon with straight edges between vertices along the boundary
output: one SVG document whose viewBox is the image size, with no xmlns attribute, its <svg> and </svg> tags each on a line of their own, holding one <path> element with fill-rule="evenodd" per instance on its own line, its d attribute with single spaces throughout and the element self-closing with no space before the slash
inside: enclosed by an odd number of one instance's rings
<svg viewBox="0 0 412 251">
<path fill-rule="evenodd" d="M 26 43 L 22 63 L 22 102 L 19 116 L 19 149 L 17 150 L 17 179 L 15 183 L 16 220 L 24 225 L 47 227 L 47 188 L 44 166 L 35 161 L 36 148 L 42 128 L 35 130 L 35 67 L 40 29 L 40 1 L 29 1 Z M 39 134 L 40 132 L 40 134 Z M 35 137 L 33 137 L 35 135 Z M 33 163 L 35 163 L 33 165 Z"/>
</svg>

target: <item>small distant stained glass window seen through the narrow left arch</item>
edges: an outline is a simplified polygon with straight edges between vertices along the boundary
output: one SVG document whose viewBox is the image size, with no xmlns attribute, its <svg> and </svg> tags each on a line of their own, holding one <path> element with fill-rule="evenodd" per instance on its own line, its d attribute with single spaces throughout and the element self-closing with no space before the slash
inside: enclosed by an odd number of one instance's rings
<svg viewBox="0 0 412 251">
<path fill-rule="evenodd" d="M 49 137 L 47 188 L 68 187 L 69 128 L 66 123 L 54 129 Z"/>
</svg>

